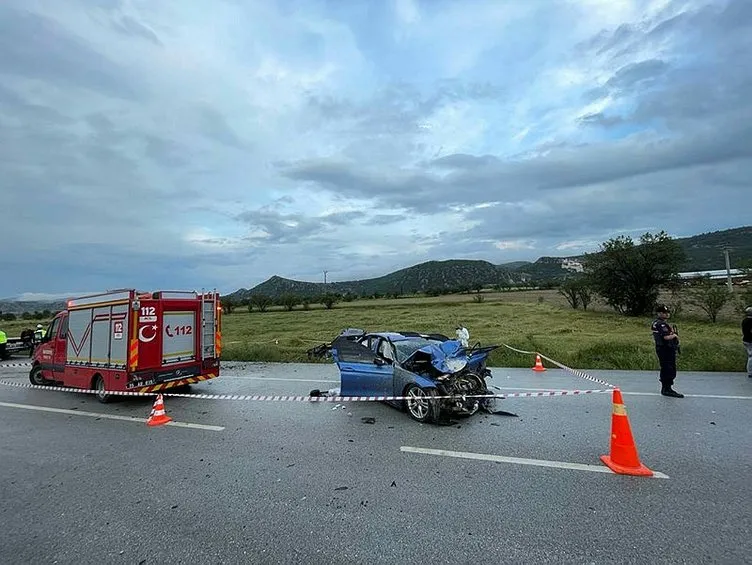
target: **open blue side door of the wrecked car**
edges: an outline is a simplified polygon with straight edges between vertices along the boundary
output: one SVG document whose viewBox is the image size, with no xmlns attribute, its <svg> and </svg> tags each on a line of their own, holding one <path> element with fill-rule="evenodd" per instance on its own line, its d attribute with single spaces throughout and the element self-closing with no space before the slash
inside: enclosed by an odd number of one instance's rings
<svg viewBox="0 0 752 565">
<path fill-rule="evenodd" d="M 339 338 L 332 343 L 332 356 L 340 372 L 342 396 L 389 396 L 394 367 L 379 355 L 370 338 L 353 341 Z"/>
</svg>

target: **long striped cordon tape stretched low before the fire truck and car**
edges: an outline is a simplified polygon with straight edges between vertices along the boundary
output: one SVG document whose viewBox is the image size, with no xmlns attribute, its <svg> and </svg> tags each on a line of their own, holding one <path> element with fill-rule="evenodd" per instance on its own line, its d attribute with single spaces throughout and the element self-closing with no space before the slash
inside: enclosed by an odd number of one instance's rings
<svg viewBox="0 0 752 565">
<path fill-rule="evenodd" d="M 26 383 L 9 383 L 0 381 L 0 385 L 15 388 L 30 388 L 55 392 L 73 392 L 79 394 L 99 394 L 100 391 L 83 388 L 69 388 L 60 386 L 32 385 Z M 512 394 L 468 394 L 464 396 L 433 396 L 434 400 L 454 399 L 467 400 L 470 398 L 533 398 L 541 396 L 575 396 L 580 394 L 607 393 L 609 390 L 552 390 L 545 392 L 520 392 Z M 385 400 L 408 400 L 408 396 L 297 396 L 271 394 L 183 394 L 175 392 L 135 392 L 135 391 L 106 391 L 113 396 L 174 396 L 179 398 L 196 398 L 200 400 L 252 400 L 271 402 L 383 402 Z"/>
</svg>

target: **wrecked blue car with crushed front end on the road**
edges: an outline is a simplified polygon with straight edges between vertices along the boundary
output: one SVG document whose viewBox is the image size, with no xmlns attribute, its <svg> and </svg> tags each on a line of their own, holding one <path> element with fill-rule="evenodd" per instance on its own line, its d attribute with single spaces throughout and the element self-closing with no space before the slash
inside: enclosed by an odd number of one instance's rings
<svg viewBox="0 0 752 565">
<path fill-rule="evenodd" d="M 452 415 L 493 412 L 486 379 L 488 355 L 498 345 L 468 346 L 467 330 L 458 339 L 417 332 L 343 330 L 331 343 L 308 350 L 309 358 L 331 356 L 340 372 L 336 396 L 398 396 L 385 402 L 418 422 L 438 423 Z M 312 391 L 319 394 L 320 391 Z M 322 393 L 323 394 L 323 393 Z M 488 398 L 478 398 L 487 395 Z M 452 398 L 441 398 L 450 396 Z"/>
</svg>

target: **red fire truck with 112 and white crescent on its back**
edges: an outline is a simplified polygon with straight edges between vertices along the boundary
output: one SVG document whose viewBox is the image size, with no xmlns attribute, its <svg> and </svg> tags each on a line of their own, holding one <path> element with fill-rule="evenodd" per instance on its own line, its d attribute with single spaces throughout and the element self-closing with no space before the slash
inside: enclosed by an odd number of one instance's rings
<svg viewBox="0 0 752 565">
<path fill-rule="evenodd" d="M 29 380 L 156 392 L 219 376 L 222 306 L 215 292 L 133 289 L 68 300 L 34 351 Z"/>
</svg>

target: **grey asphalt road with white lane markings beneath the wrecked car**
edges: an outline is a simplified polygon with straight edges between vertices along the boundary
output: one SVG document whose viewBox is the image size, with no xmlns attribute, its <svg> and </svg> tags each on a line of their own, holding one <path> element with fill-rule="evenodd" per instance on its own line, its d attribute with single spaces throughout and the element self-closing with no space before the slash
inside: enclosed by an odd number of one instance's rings
<svg viewBox="0 0 752 565">
<path fill-rule="evenodd" d="M 195 426 L 150 428 L 151 398 L 0 386 L 0 562 L 751 563 L 752 379 L 680 373 L 687 397 L 673 399 L 655 373 L 591 374 L 624 392 L 642 462 L 668 478 L 595 472 L 610 394 L 508 398 L 499 408 L 518 417 L 450 426 L 371 402 L 166 397 L 173 421 Z M 494 369 L 490 382 L 603 388 L 558 369 Z M 334 386 L 332 365 L 226 363 L 193 390 Z"/>
</svg>

